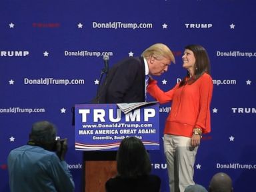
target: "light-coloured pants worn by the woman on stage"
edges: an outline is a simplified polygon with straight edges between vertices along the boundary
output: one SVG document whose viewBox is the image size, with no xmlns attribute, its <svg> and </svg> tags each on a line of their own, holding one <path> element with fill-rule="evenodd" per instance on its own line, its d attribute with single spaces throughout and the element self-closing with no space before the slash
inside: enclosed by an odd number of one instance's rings
<svg viewBox="0 0 256 192">
<path fill-rule="evenodd" d="M 191 148 L 191 138 L 164 135 L 164 152 L 167 161 L 169 187 L 171 192 L 184 192 L 193 181 L 197 148 Z"/>
</svg>

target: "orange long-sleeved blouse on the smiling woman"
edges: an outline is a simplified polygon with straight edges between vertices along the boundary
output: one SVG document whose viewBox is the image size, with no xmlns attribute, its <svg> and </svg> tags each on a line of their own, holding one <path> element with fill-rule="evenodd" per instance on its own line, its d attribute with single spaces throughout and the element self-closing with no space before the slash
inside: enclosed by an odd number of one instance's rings
<svg viewBox="0 0 256 192">
<path fill-rule="evenodd" d="M 204 73 L 191 85 L 164 92 L 157 86 L 157 81 L 149 82 L 147 92 L 159 103 L 172 101 L 171 111 L 165 122 L 164 134 L 191 137 L 193 128 L 199 127 L 203 133 L 211 131 L 210 103 L 213 94 L 213 80 Z"/>
</svg>

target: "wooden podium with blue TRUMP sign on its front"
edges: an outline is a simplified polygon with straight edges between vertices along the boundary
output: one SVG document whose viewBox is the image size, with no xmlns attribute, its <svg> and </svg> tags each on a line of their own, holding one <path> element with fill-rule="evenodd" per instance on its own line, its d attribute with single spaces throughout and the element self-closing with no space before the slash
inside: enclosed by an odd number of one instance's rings
<svg viewBox="0 0 256 192">
<path fill-rule="evenodd" d="M 159 104 L 123 113 L 117 104 L 75 105 L 75 149 L 83 151 L 83 191 L 105 192 L 117 175 L 117 150 L 125 137 L 159 150 Z"/>
</svg>

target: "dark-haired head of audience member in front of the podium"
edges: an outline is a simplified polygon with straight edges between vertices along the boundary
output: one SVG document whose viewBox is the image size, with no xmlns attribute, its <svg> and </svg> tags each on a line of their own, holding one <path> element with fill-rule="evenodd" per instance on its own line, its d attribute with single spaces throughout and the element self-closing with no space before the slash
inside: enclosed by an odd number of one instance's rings
<svg viewBox="0 0 256 192">
<path fill-rule="evenodd" d="M 127 137 L 117 151 L 117 172 L 121 177 L 137 177 L 151 172 L 149 155 L 140 139 Z"/>
</svg>

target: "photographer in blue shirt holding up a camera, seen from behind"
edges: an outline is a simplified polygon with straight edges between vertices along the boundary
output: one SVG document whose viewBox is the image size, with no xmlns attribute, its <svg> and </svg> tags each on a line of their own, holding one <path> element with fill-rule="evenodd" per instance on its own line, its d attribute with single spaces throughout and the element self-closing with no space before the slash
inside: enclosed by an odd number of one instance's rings
<svg viewBox="0 0 256 192">
<path fill-rule="evenodd" d="M 27 145 L 8 156 L 9 185 L 14 191 L 67 191 L 75 189 L 65 162 L 67 139 L 56 140 L 55 125 L 33 124 Z"/>
</svg>

